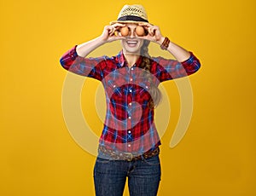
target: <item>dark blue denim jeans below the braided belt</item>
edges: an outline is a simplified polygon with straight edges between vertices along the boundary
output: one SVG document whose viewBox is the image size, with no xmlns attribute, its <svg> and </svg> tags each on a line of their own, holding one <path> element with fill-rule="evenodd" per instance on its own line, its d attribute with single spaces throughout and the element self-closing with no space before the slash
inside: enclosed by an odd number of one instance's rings
<svg viewBox="0 0 256 196">
<path fill-rule="evenodd" d="M 122 196 L 126 178 L 131 196 L 155 196 L 160 184 L 159 155 L 142 160 L 97 157 L 94 167 L 96 196 Z"/>
</svg>

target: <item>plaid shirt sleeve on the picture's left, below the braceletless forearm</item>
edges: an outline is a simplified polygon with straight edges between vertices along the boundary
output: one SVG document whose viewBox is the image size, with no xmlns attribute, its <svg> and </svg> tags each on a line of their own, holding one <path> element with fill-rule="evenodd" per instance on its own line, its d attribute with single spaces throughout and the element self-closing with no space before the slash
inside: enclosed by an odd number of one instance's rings
<svg viewBox="0 0 256 196">
<path fill-rule="evenodd" d="M 61 56 L 61 66 L 69 72 L 73 72 L 84 77 L 102 80 L 102 70 L 106 64 L 106 56 L 99 58 L 84 58 L 77 54 L 76 48 L 77 46 L 74 46 Z"/>
</svg>

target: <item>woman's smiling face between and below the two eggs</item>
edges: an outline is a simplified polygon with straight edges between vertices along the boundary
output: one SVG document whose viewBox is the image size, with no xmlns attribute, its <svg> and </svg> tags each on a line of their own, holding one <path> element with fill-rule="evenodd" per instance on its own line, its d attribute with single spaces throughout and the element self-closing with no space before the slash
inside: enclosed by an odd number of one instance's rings
<svg viewBox="0 0 256 196">
<path fill-rule="evenodd" d="M 129 34 L 125 39 L 121 40 L 124 53 L 140 54 L 143 46 L 143 39 L 136 34 L 137 24 L 128 23 L 126 26 L 129 29 Z"/>
</svg>

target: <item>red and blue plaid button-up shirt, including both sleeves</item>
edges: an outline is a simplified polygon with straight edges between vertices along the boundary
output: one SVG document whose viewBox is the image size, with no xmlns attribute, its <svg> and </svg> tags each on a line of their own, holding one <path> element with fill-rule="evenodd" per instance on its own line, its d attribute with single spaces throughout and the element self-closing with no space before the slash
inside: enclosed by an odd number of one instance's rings
<svg viewBox="0 0 256 196">
<path fill-rule="evenodd" d="M 96 78 L 104 86 L 107 112 L 100 145 L 129 153 L 144 153 L 160 145 L 154 125 L 154 108 L 148 107 L 151 99 L 148 79 L 144 69 L 136 64 L 129 67 L 122 51 L 113 57 L 83 58 L 76 46 L 61 57 L 61 66 L 69 72 Z M 200 62 L 190 52 L 187 61 L 178 62 L 162 57 L 151 58 L 149 75 L 157 86 L 161 82 L 182 78 L 196 72 Z"/>
</svg>

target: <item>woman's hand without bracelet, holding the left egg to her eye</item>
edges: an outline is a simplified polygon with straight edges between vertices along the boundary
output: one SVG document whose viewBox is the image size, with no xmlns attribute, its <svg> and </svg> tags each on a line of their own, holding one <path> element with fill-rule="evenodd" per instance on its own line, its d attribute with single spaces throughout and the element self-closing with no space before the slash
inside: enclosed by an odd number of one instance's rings
<svg viewBox="0 0 256 196">
<path fill-rule="evenodd" d="M 119 40 L 125 37 L 119 36 L 118 32 L 121 27 L 124 27 L 125 24 L 115 23 L 111 26 L 105 26 L 102 32 L 102 40 L 104 42 L 113 42 L 115 40 Z"/>
</svg>

